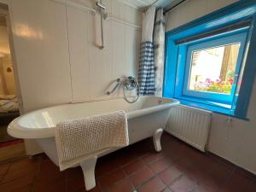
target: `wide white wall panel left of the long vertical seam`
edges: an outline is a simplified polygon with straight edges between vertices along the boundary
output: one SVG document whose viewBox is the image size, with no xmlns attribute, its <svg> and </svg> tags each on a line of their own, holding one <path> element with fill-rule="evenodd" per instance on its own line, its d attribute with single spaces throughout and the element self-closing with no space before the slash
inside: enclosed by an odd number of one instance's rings
<svg viewBox="0 0 256 192">
<path fill-rule="evenodd" d="M 70 102 L 65 6 L 48 0 L 9 5 L 25 111 Z"/>
</svg>

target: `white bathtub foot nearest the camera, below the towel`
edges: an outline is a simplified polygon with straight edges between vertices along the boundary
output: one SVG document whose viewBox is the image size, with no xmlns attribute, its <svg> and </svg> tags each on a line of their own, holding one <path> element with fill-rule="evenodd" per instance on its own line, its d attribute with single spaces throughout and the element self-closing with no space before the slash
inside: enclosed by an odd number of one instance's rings
<svg viewBox="0 0 256 192">
<path fill-rule="evenodd" d="M 84 185 L 86 190 L 93 189 L 96 186 L 95 181 L 95 166 L 97 156 L 91 157 L 88 160 L 84 160 L 80 163 L 80 166 L 84 173 Z"/>
</svg>

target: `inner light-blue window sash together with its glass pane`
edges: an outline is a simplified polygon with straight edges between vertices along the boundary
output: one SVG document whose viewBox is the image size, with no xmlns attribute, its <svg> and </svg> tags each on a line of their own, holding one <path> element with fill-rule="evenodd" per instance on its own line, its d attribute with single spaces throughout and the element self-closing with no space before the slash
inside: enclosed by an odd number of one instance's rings
<svg viewBox="0 0 256 192">
<path fill-rule="evenodd" d="M 232 105 L 247 32 L 207 38 L 188 46 L 184 63 L 183 96 Z M 222 35 L 220 35 L 222 36 Z"/>
</svg>

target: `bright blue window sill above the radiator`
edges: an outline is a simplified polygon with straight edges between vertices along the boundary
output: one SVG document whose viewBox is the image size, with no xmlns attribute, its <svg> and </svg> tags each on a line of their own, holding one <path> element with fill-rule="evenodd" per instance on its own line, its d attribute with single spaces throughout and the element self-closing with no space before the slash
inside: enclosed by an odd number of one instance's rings
<svg viewBox="0 0 256 192">
<path fill-rule="evenodd" d="M 181 98 L 177 98 L 179 100 L 179 102 L 183 105 L 187 105 L 189 107 L 193 107 L 193 108 L 201 108 L 201 109 L 205 109 L 208 111 L 211 111 L 213 113 L 220 113 L 220 114 L 224 114 L 230 117 L 234 117 L 236 119 L 243 119 L 243 120 L 249 120 L 247 118 L 243 118 L 243 117 L 239 117 L 236 116 L 236 114 L 234 113 L 234 110 L 231 109 L 230 105 L 226 105 L 223 103 L 218 103 L 218 102 L 209 102 L 209 101 L 205 101 L 205 100 L 200 100 L 200 99 L 195 99 L 195 98 L 189 98 L 189 97 L 181 97 Z"/>
</svg>

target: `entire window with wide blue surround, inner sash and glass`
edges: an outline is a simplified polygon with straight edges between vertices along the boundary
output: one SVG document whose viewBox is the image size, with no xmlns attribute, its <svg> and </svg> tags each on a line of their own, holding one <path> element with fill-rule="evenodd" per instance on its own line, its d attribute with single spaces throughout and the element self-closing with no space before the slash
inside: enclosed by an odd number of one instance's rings
<svg viewBox="0 0 256 192">
<path fill-rule="evenodd" d="M 246 119 L 256 71 L 255 8 L 234 3 L 167 32 L 164 96 Z"/>
</svg>

